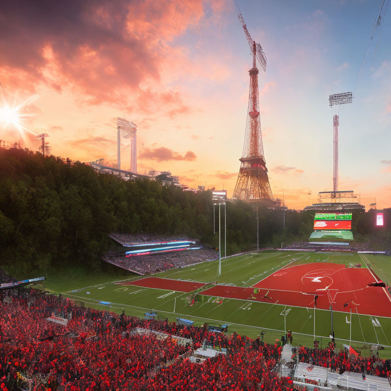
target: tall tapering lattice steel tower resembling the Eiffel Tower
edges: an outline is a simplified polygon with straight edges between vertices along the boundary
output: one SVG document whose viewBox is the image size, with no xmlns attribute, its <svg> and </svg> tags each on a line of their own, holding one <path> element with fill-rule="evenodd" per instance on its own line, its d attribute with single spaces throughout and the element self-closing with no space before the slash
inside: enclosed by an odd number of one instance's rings
<svg viewBox="0 0 391 391">
<path fill-rule="evenodd" d="M 266 71 L 266 57 L 261 45 L 256 44 L 250 37 L 241 14 L 239 20 L 242 23 L 244 34 L 253 52 L 253 68 L 249 70 L 250 91 L 248 95 L 248 109 L 246 132 L 242 157 L 239 159 L 240 170 L 236 182 L 233 199 L 245 201 L 262 201 L 272 205 L 275 203 L 271 192 L 269 177 L 263 153 L 261 121 L 259 116 L 259 90 L 256 59 Z"/>
</svg>

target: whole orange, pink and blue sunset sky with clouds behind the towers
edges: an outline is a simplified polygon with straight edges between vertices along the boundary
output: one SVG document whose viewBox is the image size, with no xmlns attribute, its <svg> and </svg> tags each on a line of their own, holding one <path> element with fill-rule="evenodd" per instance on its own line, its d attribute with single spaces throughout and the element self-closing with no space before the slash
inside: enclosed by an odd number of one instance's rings
<svg viewBox="0 0 391 391">
<path fill-rule="evenodd" d="M 261 127 L 274 197 L 301 209 L 332 189 L 332 116 L 340 115 L 341 190 L 391 207 L 391 9 L 380 0 L 237 0 L 267 57 Z M 383 12 L 384 13 L 384 12 Z M 250 50 L 234 0 L 14 0 L 0 6 L 1 105 L 24 135 L 0 138 L 55 156 L 116 161 L 116 117 L 137 124 L 138 172 L 170 170 L 232 196 L 246 125 Z M 380 38 L 378 40 L 378 37 Z M 122 167 L 130 141 L 122 140 Z"/>
</svg>

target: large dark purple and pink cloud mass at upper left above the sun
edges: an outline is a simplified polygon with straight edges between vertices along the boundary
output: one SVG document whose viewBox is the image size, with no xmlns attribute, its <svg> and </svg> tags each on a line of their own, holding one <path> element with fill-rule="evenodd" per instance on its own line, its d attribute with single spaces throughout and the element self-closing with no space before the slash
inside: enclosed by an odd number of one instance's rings
<svg viewBox="0 0 391 391">
<path fill-rule="evenodd" d="M 142 83 L 158 81 L 173 38 L 204 17 L 202 0 L 69 0 L 45 7 L 29 0 L 2 7 L 2 82 L 31 90 L 45 83 L 58 92 L 66 84 L 91 103 L 126 101 Z M 170 107 L 167 115 L 186 110 Z"/>
</svg>

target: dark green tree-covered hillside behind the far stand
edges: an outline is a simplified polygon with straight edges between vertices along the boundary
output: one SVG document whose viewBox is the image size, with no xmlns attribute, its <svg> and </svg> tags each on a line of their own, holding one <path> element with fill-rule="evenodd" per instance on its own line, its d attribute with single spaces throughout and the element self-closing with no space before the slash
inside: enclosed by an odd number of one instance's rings
<svg viewBox="0 0 391 391">
<path fill-rule="evenodd" d="M 0 265 L 27 273 L 70 264 L 97 269 L 110 232 L 188 235 L 217 246 L 211 198 L 211 191 L 124 181 L 69 159 L 0 149 Z M 313 215 L 286 212 L 284 231 L 282 211 L 260 208 L 260 246 L 305 240 Z M 256 248 L 256 216 L 251 205 L 228 203 L 228 254 Z M 353 223 L 361 235 L 373 231 L 368 213 Z"/>
</svg>

